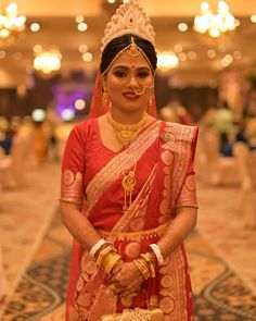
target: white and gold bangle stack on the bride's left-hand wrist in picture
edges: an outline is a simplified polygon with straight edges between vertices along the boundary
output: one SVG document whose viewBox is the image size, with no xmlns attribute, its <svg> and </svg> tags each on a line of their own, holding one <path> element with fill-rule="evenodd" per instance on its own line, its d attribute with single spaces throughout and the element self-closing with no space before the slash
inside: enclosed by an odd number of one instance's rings
<svg viewBox="0 0 256 321">
<path fill-rule="evenodd" d="M 121 258 L 113 245 L 104 239 L 98 240 L 89 252 L 90 257 L 97 262 L 97 266 L 110 274 L 112 269 Z"/>
</svg>

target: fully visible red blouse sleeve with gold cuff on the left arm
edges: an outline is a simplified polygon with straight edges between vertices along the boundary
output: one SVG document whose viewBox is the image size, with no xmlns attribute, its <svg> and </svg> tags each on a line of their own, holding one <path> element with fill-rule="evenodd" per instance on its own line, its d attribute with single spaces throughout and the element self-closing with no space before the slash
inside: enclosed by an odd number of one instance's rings
<svg viewBox="0 0 256 321">
<path fill-rule="evenodd" d="M 61 197 L 63 202 L 82 205 L 86 170 L 86 132 L 84 123 L 74 127 L 67 138 L 62 160 Z"/>
</svg>

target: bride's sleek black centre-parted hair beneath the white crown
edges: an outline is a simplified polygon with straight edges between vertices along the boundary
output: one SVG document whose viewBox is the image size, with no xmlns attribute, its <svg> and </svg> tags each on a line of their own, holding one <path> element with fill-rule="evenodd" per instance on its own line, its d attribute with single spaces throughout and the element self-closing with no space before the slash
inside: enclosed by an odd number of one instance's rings
<svg viewBox="0 0 256 321">
<path fill-rule="evenodd" d="M 144 52 L 144 54 L 149 59 L 153 71 L 156 70 L 157 57 L 154 46 L 144 38 L 132 34 L 127 34 L 112 39 L 104 48 L 101 55 L 100 64 L 100 72 L 102 74 L 108 69 L 118 52 L 120 52 L 123 49 L 131 44 L 131 37 L 133 37 L 133 41 L 136 42 L 136 45 Z"/>
</svg>

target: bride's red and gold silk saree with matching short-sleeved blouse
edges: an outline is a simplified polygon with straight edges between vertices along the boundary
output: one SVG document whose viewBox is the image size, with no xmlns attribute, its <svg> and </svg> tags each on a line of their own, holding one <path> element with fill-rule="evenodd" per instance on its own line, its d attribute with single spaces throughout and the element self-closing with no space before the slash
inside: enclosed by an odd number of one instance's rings
<svg viewBox="0 0 256 321">
<path fill-rule="evenodd" d="M 197 207 L 193 159 L 197 127 L 158 120 L 148 124 L 128 148 L 114 152 L 101 140 L 98 120 L 76 125 L 66 143 L 61 198 L 81 206 L 102 238 L 125 261 L 146 252 L 165 233 L 178 207 Z M 124 213 L 120 173 L 136 165 L 132 202 Z M 183 244 L 165 259 L 156 277 L 137 296 L 118 298 L 106 274 L 74 239 L 66 321 L 100 321 L 124 309 L 159 307 L 165 320 L 193 320 L 193 298 Z"/>
</svg>

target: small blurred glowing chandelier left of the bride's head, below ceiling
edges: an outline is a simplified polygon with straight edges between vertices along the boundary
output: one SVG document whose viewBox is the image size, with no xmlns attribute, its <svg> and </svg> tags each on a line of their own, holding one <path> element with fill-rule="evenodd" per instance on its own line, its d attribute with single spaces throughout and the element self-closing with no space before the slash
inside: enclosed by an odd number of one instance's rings
<svg viewBox="0 0 256 321">
<path fill-rule="evenodd" d="M 44 78 L 53 76 L 61 69 L 62 54 L 59 50 L 42 50 L 34 59 L 34 69 Z"/>
</svg>

